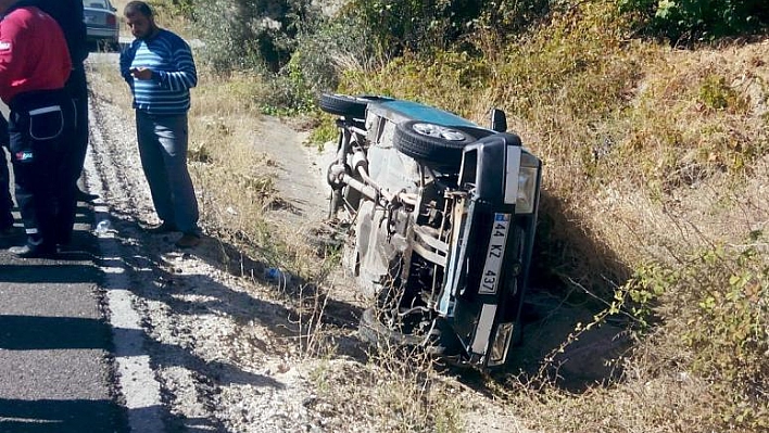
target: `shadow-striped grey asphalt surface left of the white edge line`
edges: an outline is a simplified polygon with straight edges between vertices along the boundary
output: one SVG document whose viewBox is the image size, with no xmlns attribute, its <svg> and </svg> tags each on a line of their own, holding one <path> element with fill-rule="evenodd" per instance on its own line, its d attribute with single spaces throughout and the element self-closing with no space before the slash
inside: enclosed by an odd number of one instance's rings
<svg viewBox="0 0 769 433">
<path fill-rule="evenodd" d="M 20 259 L 0 238 L 0 432 L 125 432 L 116 402 L 112 330 L 102 315 L 103 279 L 92 212 L 78 204 L 72 251 Z"/>
</svg>

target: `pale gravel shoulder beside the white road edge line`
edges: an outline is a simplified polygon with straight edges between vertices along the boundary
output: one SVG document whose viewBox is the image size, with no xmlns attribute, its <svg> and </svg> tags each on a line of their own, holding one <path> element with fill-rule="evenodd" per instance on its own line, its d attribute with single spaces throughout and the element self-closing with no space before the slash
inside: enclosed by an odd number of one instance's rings
<svg viewBox="0 0 769 433">
<path fill-rule="evenodd" d="M 150 235 L 155 220 L 134 142 L 133 119 L 91 99 L 96 126 L 91 155 L 115 239 L 129 269 L 133 304 L 147 334 L 146 349 L 161 384 L 171 431 L 304 431 L 314 424 L 302 405 L 312 362 L 297 362 L 291 311 L 217 269 L 222 245 L 211 238 L 190 253 L 175 238 Z"/>
</svg>

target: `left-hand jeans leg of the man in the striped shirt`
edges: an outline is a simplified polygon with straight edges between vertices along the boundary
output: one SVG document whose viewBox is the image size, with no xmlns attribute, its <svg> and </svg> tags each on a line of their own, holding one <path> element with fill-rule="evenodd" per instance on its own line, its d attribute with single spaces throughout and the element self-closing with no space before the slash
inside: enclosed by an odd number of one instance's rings
<svg viewBox="0 0 769 433">
<path fill-rule="evenodd" d="M 150 186 L 152 204 L 157 217 L 167 224 L 175 224 L 172 192 L 164 163 L 164 150 L 155 136 L 155 117 L 136 112 L 136 132 L 139 143 L 141 168 Z"/>
</svg>

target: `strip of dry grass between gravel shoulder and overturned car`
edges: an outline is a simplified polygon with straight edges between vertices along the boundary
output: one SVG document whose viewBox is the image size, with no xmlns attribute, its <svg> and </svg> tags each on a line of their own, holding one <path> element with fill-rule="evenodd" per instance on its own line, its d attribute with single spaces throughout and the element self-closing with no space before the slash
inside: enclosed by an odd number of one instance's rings
<svg viewBox="0 0 769 433">
<path fill-rule="evenodd" d="M 99 98 L 131 118 L 130 93 L 117 65 L 96 63 L 92 68 L 93 79 L 106 81 Z M 259 271 L 254 263 L 279 266 L 302 281 L 298 286 L 275 285 L 272 296 L 292 305 L 298 353 L 304 361 L 317 364 L 313 377 L 318 398 L 310 408 L 327 416 L 326 429 L 462 431 L 461 412 L 445 398 L 457 391 L 436 373 L 429 359 L 404 356 L 395 348 L 373 352 L 367 362 L 351 362 L 338 354 L 336 341 L 349 339 L 350 330 L 324 319 L 336 284 L 329 273 L 338 258 L 333 251 L 318 256 L 304 230 L 276 224 L 267 212 L 276 200 L 269 175 L 276 162 L 255 145 L 264 125 L 260 101 L 266 91 L 259 78 L 213 76 L 199 65 L 189 113 L 189 167 L 200 198 L 201 226 L 223 246 L 235 246 L 223 247 L 223 265 L 255 280 L 261 275 L 253 275 Z"/>
</svg>

